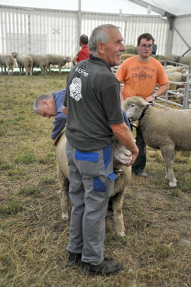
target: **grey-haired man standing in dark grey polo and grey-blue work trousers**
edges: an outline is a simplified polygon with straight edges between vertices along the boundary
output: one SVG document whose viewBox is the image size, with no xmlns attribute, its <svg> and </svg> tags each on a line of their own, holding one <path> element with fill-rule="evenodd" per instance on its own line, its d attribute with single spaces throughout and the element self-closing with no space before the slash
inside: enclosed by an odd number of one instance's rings
<svg viewBox="0 0 191 287">
<path fill-rule="evenodd" d="M 96 27 L 88 42 L 88 60 L 79 62 L 68 75 L 62 112 L 67 113 L 66 155 L 72 201 L 67 266 L 81 261 L 80 273 L 114 274 L 121 263 L 104 258 L 105 215 L 113 193 L 115 135 L 133 154 L 138 148 L 126 126 L 120 107 L 120 86 L 111 67 L 120 64 L 125 50 L 119 28 Z"/>
</svg>

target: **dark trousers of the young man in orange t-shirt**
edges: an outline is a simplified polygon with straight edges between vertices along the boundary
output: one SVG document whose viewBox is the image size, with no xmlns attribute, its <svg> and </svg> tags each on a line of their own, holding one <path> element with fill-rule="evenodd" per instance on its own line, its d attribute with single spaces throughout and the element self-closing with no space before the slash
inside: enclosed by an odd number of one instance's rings
<svg viewBox="0 0 191 287">
<path fill-rule="evenodd" d="M 132 171 L 135 174 L 144 172 L 144 168 L 146 166 L 146 144 L 143 139 L 142 132 L 140 128 L 136 129 L 137 135 L 136 135 L 136 145 L 139 149 L 138 157 L 136 158 L 135 163 L 132 165 Z"/>
</svg>

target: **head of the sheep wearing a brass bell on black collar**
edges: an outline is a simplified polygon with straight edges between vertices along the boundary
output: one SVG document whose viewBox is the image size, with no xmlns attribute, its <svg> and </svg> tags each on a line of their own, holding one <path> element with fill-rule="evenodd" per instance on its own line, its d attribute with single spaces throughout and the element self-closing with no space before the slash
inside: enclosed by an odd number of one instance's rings
<svg viewBox="0 0 191 287">
<path fill-rule="evenodd" d="M 140 97 L 130 97 L 125 99 L 122 109 L 128 118 L 138 120 L 143 112 L 144 107 L 149 104 Z"/>
</svg>

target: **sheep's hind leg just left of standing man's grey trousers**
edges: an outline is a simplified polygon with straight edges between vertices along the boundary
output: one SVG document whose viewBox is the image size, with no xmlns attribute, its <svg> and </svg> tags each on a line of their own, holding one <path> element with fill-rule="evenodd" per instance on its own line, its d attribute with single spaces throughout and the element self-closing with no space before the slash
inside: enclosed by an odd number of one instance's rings
<svg viewBox="0 0 191 287">
<path fill-rule="evenodd" d="M 59 195 L 61 199 L 61 210 L 62 210 L 62 219 L 67 220 L 68 219 L 68 208 L 69 208 L 69 180 L 64 175 L 61 165 L 59 163 L 58 157 L 57 157 L 57 165 L 56 165 L 56 173 L 58 175 L 58 179 L 60 182 L 60 190 Z"/>
</svg>

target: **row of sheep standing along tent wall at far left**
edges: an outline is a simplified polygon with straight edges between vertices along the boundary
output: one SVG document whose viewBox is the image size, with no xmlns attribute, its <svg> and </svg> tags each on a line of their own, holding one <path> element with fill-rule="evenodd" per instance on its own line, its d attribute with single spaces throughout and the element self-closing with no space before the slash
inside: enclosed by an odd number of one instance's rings
<svg viewBox="0 0 191 287">
<path fill-rule="evenodd" d="M 3 66 L 6 73 L 6 67 L 8 74 L 13 75 L 14 58 L 16 58 L 19 66 L 19 75 L 24 74 L 24 68 L 26 70 L 26 76 L 28 72 L 32 76 L 33 67 L 41 68 L 41 74 L 46 75 L 47 70 L 51 72 L 50 65 L 58 65 L 59 73 L 61 73 L 61 67 L 66 63 L 71 62 L 71 57 L 64 57 L 63 55 L 47 54 L 47 55 L 20 55 L 19 53 L 12 52 L 11 54 L 0 54 L 0 67 L 1 74 L 3 73 Z"/>
</svg>

